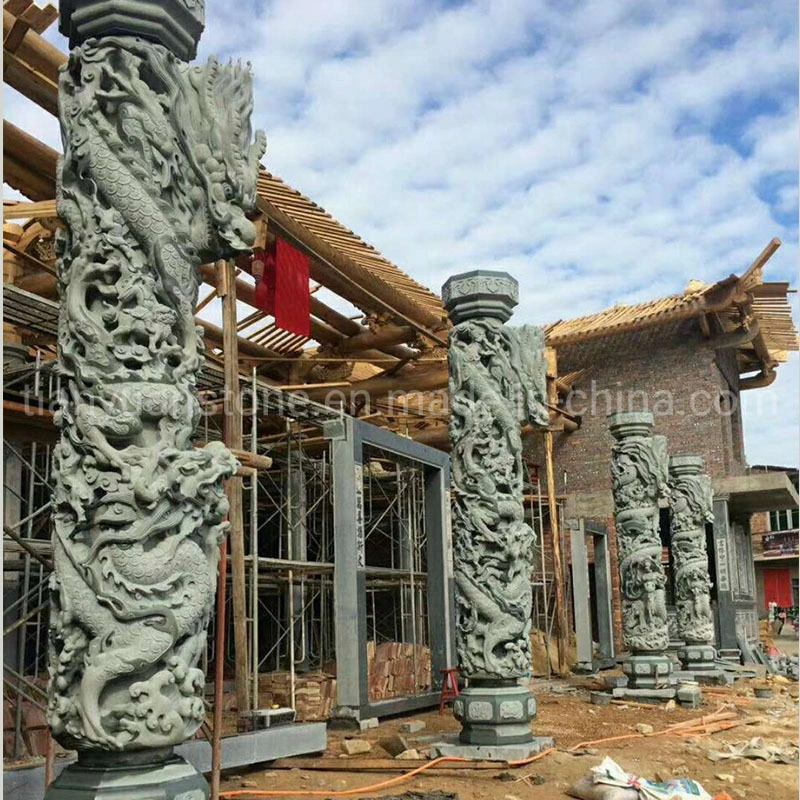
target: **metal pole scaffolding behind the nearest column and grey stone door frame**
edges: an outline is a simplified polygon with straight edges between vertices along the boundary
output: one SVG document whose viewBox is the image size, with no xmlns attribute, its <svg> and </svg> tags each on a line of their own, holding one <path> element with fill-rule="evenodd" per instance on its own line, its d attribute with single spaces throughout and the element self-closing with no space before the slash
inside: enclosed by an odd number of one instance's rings
<svg viewBox="0 0 800 800">
<path fill-rule="evenodd" d="M 31 409 L 33 420 L 40 423 L 27 424 L 20 417 L 21 424 L 9 429 L 9 436 L 21 438 L 4 439 L 6 461 L 13 460 L 17 466 L 14 472 L 7 463 L 4 470 L 4 492 L 11 501 L 5 503 L 4 520 L 7 579 L 4 638 L 16 645 L 6 647 L 4 697 L 14 708 L 14 754 L 21 757 L 30 755 L 25 742 L 23 704 L 30 703 L 31 706 L 25 707 L 40 710 L 46 705 L 47 581 L 52 558 L 49 474 L 55 441 L 51 414 L 55 408 L 53 398 L 59 389 L 53 364 L 52 352 L 42 350 L 35 362 L 4 365 L 5 399 L 17 408 Z M 223 438 L 214 409 L 224 392 L 224 376 L 213 360 L 207 360 L 200 385 L 201 408 L 205 413 L 195 431 L 198 444 Z M 246 669 L 251 678 L 248 682 L 251 707 L 262 705 L 259 675 L 273 670 L 288 671 L 290 703 L 294 706 L 298 675 L 330 670 L 336 660 L 336 631 L 342 625 L 340 610 L 334 604 L 337 526 L 343 531 L 340 539 L 360 536 L 364 547 L 364 578 L 358 590 L 364 598 L 359 601 L 363 603 L 360 607 L 366 609 L 364 645 L 367 639 L 375 645 L 384 641 L 413 645 L 410 699 L 429 701 L 435 690 L 431 684 L 438 678 L 438 667 L 453 663 L 452 642 L 439 635 L 445 643 L 434 645 L 441 649 L 433 659 L 434 681 L 427 675 L 423 677 L 417 664 L 417 647 L 429 647 L 437 638 L 432 626 L 441 630 L 452 624 L 449 611 L 444 616 L 439 614 L 440 619 L 429 619 L 429 613 L 438 613 L 430 607 L 430 592 L 438 593 L 436 607 L 442 608 L 441 603 L 447 605 L 448 601 L 439 596 L 444 597 L 452 590 L 447 587 L 451 577 L 448 578 L 446 567 L 447 546 L 442 539 L 447 535 L 443 527 L 444 506 L 435 506 L 435 502 L 444 503 L 447 496 L 447 456 L 347 417 L 340 410 L 274 389 L 255 370 L 250 378 L 241 376 L 240 388 L 244 397 L 243 444 L 261 462 L 264 456 L 272 460 L 268 468 L 257 464 L 240 471 L 249 656 Z M 345 431 L 350 432 L 347 441 L 342 440 Z M 353 527 L 336 517 L 335 446 L 340 449 L 340 466 L 349 463 L 352 470 L 352 464 L 356 465 L 355 473 L 351 473 L 359 476 L 355 494 L 348 496 L 340 489 L 339 496 L 346 497 L 348 505 L 355 498 L 355 514 L 363 525 L 360 534 L 358 524 Z M 343 459 L 342 453 L 346 454 Z M 420 453 L 430 453 L 423 457 L 428 460 L 415 460 Z M 433 494 L 431 486 L 436 487 Z M 441 550 L 436 551 L 438 560 L 434 565 L 437 583 L 441 585 L 433 589 L 427 573 L 430 544 L 427 520 L 432 509 L 435 509 L 434 530 L 438 537 L 435 547 Z M 232 576 L 231 561 L 227 556 L 224 562 L 228 583 Z M 231 677 L 242 665 L 235 657 L 230 592 L 225 604 L 227 621 L 220 641 L 223 674 Z M 203 657 L 209 684 L 213 681 L 217 656 L 215 634 L 216 615 L 212 618 Z M 350 663 L 348 657 L 345 661 Z M 359 661 L 359 672 L 364 664 Z M 363 685 L 359 696 L 364 708 L 372 701 L 381 702 L 378 698 L 368 698 Z M 398 703 L 404 697 L 393 697 L 389 702 Z M 207 701 L 210 712 L 213 706 L 210 696 Z M 204 725 L 204 731 L 212 737 L 208 724 Z M 48 752 L 52 756 L 52 746 Z"/>
</svg>

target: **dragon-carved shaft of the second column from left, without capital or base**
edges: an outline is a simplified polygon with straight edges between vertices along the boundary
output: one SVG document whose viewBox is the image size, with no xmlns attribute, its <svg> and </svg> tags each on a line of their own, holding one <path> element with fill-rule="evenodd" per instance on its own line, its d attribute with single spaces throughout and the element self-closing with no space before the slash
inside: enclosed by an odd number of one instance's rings
<svg viewBox="0 0 800 800">
<path fill-rule="evenodd" d="M 544 337 L 499 319 L 449 334 L 457 648 L 471 678 L 530 673 L 530 559 L 520 424 L 546 425 Z"/>
</svg>

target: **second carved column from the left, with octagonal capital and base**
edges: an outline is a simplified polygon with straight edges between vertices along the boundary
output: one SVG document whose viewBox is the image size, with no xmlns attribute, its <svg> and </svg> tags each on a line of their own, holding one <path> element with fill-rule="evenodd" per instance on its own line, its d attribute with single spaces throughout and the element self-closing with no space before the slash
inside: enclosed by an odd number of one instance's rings
<svg viewBox="0 0 800 800">
<path fill-rule="evenodd" d="M 506 327 L 516 280 L 477 270 L 445 283 L 457 629 L 468 688 L 453 710 L 464 745 L 525 745 L 536 700 L 531 672 L 531 548 L 524 520 L 523 423 L 547 425 L 541 328 Z M 552 741 L 552 740 L 549 740 Z M 546 743 L 545 743 L 546 744 Z M 538 746 L 537 746 L 538 745 Z M 443 748 L 439 748 L 443 752 Z"/>
</svg>

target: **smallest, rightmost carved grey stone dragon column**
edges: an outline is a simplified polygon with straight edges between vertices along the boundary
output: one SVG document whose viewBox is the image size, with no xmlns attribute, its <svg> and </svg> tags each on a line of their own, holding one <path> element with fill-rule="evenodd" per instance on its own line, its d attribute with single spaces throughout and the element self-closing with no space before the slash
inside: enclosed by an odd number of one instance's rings
<svg viewBox="0 0 800 800">
<path fill-rule="evenodd" d="M 678 631 L 685 642 L 678 658 L 687 671 L 714 672 L 714 613 L 706 550 L 706 523 L 714 521 L 711 478 L 703 473 L 700 456 L 673 456 L 669 478 L 675 605 Z"/>
</svg>

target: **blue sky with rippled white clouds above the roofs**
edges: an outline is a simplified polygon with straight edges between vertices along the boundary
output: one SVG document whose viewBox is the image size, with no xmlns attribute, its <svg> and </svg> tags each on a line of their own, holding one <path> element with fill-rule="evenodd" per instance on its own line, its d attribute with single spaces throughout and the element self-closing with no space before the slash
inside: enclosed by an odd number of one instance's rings
<svg viewBox="0 0 800 800">
<path fill-rule="evenodd" d="M 505 269 L 541 323 L 741 272 L 774 236 L 767 277 L 796 286 L 795 0 L 207 7 L 201 55 L 253 64 L 266 166 L 437 291 Z M 749 394 L 748 460 L 796 464 L 796 356 Z"/>
</svg>

